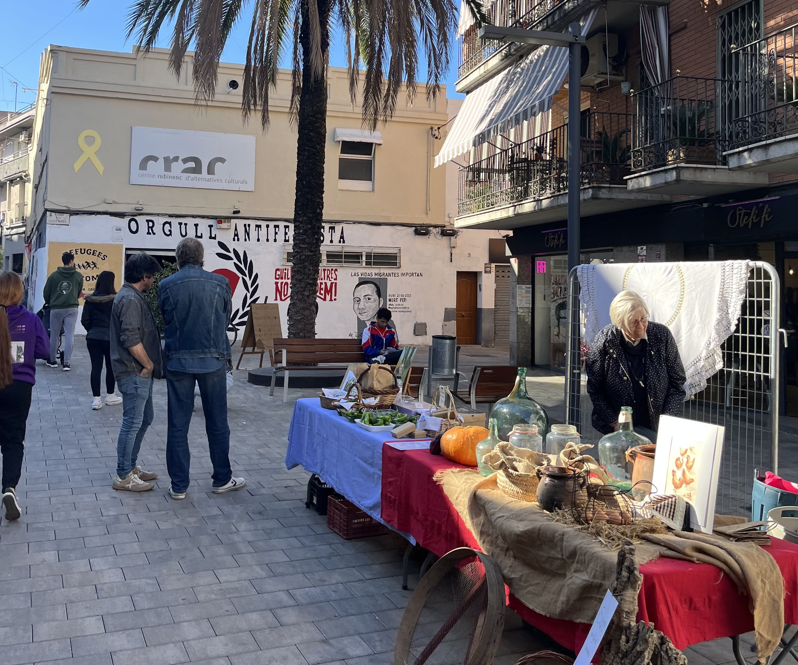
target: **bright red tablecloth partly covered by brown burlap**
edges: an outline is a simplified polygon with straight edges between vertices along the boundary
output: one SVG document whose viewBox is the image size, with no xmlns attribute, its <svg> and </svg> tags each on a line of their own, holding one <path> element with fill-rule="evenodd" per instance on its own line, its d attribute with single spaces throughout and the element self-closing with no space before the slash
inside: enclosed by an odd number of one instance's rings
<svg viewBox="0 0 798 665">
<path fill-rule="evenodd" d="M 382 518 L 410 533 L 438 556 L 456 547 L 476 547 L 472 533 L 446 498 L 433 474 L 460 464 L 429 451 L 397 451 L 383 446 Z M 784 622 L 798 624 L 798 547 L 776 538 L 768 547 L 784 576 Z M 654 623 L 678 649 L 718 637 L 753 631 L 748 596 L 713 565 L 659 558 L 640 567 L 643 585 L 638 620 Z M 579 651 L 590 624 L 550 619 L 514 596 L 510 607 L 524 620 L 572 651 Z"/>
</svg>

